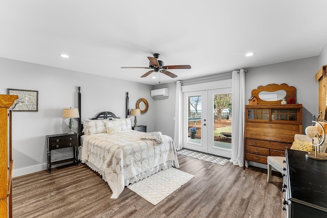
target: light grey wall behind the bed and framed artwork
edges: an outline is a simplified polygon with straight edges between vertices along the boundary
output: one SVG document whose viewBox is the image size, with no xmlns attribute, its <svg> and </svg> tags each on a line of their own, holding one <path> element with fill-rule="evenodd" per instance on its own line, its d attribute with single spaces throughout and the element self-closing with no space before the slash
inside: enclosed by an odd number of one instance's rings
<svg viewBox="0 0 327 218">
<path fill-rule="evenodd" d="M 7 88 L 37 90 L 39 94 L 38 112 L 13 112 L 13 176 L 46 169 L 45 135 L 68 132 L 69 120 L 61 117 L 62 109 L 78 107 L 78 86 L 82 93 L 82 119 L 94 117 L 101 111 L 111 111 L 124 118 L 125 94 L 129 92 L 130 108 L 135 108 L 140 98 L 148 100 L 149 110 L 137 117 L 137 123 L 154 131 L 151 85 L 5 58 L 0 58 L 0 72 L 1 94 L 7 94 Z M 77 132 L 77 122 L 74 123 Z"/>
</svg>

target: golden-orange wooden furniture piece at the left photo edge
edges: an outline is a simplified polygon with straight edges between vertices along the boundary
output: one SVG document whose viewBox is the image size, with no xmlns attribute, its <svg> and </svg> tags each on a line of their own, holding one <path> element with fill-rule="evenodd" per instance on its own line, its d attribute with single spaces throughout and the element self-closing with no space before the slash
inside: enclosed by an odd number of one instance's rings
<svg viewBox="0 0 327 218">
<path fill-rule="evenodd" d="M 0 94 L 0 216 L 12 217 L 11 110 L 17 95 Z"/>
</svg>

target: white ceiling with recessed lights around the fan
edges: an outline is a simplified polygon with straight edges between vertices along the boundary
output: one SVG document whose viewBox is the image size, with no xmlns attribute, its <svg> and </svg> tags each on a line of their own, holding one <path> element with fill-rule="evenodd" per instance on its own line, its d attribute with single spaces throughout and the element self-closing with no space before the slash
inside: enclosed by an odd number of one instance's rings
<svg viewBox="0 0 327 218">
<path fill-rule="evenodd" d="M 169 83 L 317 56 L 327 42 L 325 0 L 0 0 L 0 57 L 145 84 L 148 56 Z M 245 53 L 255 52 L 252 57 Z M 68 54 L 68 59 L 58 54 Z"/>
</svg>

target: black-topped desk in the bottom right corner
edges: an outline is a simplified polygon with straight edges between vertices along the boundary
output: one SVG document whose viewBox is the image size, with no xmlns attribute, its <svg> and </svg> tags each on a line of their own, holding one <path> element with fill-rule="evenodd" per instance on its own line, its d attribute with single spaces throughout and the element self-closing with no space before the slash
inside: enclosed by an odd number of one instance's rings
<svg viewBox="0 0 327 218">
<path fill-rule="evenodd" d="M 327 161 L 289 149 L 286 155 L 283 204 L 287 217 L 327 217 Z"/>
</svg>

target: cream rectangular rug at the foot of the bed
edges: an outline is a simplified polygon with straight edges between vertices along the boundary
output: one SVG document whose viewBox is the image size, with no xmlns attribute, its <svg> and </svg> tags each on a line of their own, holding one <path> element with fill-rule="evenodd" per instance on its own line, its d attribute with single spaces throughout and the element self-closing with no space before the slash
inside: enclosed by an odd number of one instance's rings
<svg viewBox="0 0 327 218">
<path fill-rule="evenodd" d="M 193 177 L 191 174 L 170 167 L 127 187 L 156 205 Z"/>
</svg>

